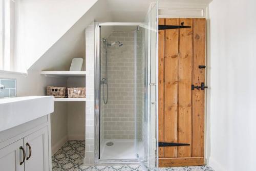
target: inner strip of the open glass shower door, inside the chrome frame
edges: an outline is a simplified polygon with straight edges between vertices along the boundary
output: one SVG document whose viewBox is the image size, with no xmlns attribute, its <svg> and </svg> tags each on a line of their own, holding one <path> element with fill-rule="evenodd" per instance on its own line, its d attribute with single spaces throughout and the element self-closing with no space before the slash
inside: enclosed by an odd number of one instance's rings
<svg viewBox="0 0 256 171">
<path fill-rule="evenodd" d="M 145 29 L 142 27 L 139 27 L 136 30 L 135 37 L 136 37 L 136 79 L 135 79 L 135 85 L 136 85 L 136 153 L 137 158 L 139 158 L 141 161 L 145 160 L 145 152 L 146 152 L 146 137 L 145 137 L 145 126 L 146 126 L 146 48 L 147 44 L 145 44 Z"/>
</svg>

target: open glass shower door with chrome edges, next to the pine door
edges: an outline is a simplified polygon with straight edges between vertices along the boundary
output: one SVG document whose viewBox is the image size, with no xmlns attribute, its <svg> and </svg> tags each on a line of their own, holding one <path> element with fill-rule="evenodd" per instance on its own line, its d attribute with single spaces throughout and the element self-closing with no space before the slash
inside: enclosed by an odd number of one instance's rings
<svg viewBox="0 0 256 171">
<path fill-rule="evenodd" d="M 157 122 L 157 3 L 152 3 L 136 36 L 135 148 L 141 165 L 158 166 Z"/>
</svg>

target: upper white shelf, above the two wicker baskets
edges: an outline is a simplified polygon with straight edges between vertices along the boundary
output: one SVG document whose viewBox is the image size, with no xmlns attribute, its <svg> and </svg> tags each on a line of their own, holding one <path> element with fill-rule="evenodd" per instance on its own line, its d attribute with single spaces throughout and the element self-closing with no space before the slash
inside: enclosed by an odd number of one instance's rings
<svg viewBox="0 0 256 171">
<path fill-rule="evenodd" d="M 86 71 L 41 71 L 47 77 L 86 77 Z"/>
</svg>

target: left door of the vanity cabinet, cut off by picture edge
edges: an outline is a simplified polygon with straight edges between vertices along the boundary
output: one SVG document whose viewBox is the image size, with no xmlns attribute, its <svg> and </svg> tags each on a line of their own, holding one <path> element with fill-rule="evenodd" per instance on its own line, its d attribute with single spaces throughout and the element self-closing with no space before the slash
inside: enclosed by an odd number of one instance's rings
<svg viewBox="0 0 256 171">
<path fill-rule="evenodd" d="M 0 167 L 1 170 L 8 171 L 24 171 L 23 161 L 23 150 L 19 147 L 24 148 L 23 139 L 20 139 L 2 149 L 0 149 Z"/>
</svg>

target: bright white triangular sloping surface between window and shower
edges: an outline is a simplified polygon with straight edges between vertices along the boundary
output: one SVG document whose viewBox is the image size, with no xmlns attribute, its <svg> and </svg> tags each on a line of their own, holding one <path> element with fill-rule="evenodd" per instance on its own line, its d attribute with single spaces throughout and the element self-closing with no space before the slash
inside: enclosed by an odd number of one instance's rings
<svg viewBox="0 0 256 171">
<path fill-rule="evenodd" d="M 20 48 L 27 60 L 27 68 L 96 2 L 97 0 L 20 0 L 20 23 L 24 34 Z"/>
</svg>

